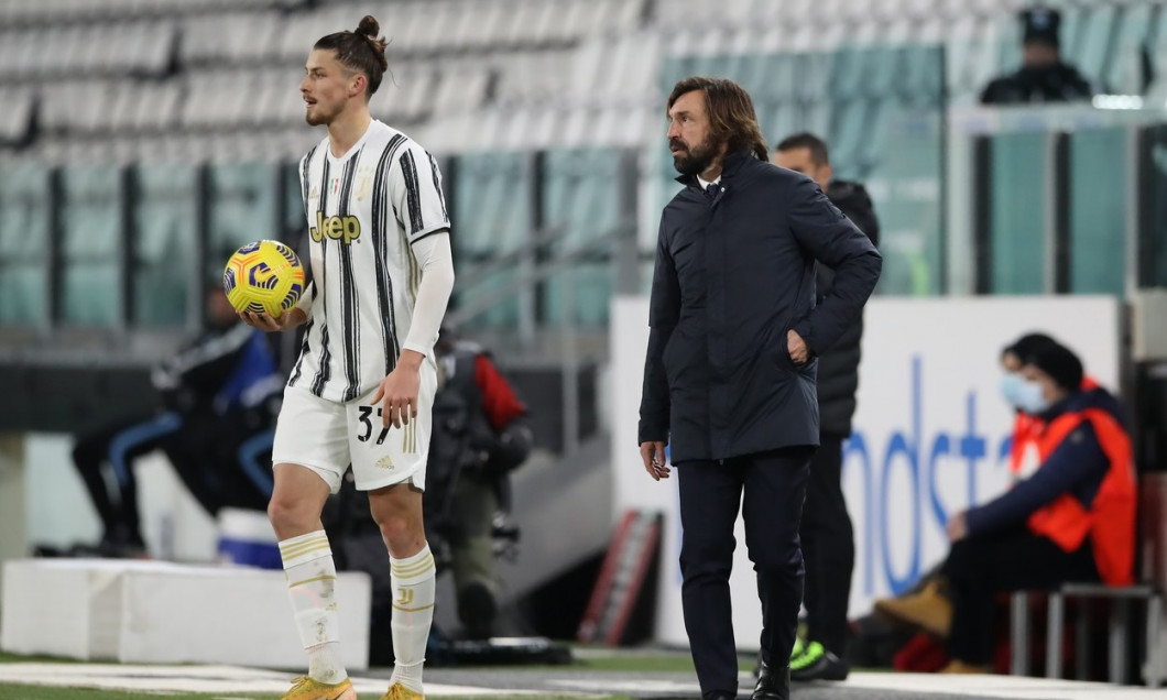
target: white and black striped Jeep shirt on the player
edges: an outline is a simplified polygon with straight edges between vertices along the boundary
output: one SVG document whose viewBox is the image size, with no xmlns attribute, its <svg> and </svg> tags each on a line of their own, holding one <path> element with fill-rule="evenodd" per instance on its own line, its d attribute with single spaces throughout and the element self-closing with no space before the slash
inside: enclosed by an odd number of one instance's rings
<svg viewBox="0 0 1167 700">
<path fill-rule="evenodd" d="M 449 229 L 438 163 L 373 120 L 342 158 L 326 136 L 300 161 L 312 251 L 310 313 L 289 386 L 359 397 L 393 369 L 421 271 L 412 244 Z M 429 354 L 429 346 L 408 348 Z"/>
</svg>

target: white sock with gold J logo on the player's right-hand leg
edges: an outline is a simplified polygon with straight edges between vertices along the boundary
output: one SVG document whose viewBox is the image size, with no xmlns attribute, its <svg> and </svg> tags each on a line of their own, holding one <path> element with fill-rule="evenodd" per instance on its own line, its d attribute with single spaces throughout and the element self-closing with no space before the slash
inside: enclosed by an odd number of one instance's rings
<svg viewBox="0 0 1167 700">
<path fill-rule="evenodd" d="M 390 685 L 401 684 L 414 693 L 422 693 L 421 667 L 426 660 L 426 642 L 434 620 L 434 589 L 436 588 L 434 558 L 426 544 L 421 551 L 406 559 L 389 559 L 393 581 L 393 678 Z"/>
</svg>

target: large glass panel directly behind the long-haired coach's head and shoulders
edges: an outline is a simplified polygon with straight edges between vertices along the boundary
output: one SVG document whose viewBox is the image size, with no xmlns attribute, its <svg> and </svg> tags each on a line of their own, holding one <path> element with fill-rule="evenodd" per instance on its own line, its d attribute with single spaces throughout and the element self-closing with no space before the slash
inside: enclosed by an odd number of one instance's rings
<svg viewBox="0 0 1167 700">
<path fill-rule="evenodd" d="M 661 85 L 668 93 L 690 75 L 727 77 L 750 91 L 771 148 L 801 131 L 823 138 L 834 177 L 859 181 L 872 196 L 883 254 L 878 292 L 931 295 L 943 293 L 946 284 L 943 66 L 938 46 L 680 56 L 663 62 Z M 654 152 L 657 214 L 678 188 L 665 128 L 662 123 L 661 145 Z M 642 233 L 642 250 L 655 250 L 655 224 L 652 232 L 651 240 Z"/>
</svg>

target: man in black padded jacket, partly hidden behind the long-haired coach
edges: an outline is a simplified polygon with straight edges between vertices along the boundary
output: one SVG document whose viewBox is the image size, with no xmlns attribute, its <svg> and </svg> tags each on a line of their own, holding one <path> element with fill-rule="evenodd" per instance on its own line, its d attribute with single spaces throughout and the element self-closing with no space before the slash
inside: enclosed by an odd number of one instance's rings
<svg viewBox="0 0 1167 700">
<path fill-rule="evenodd" d="M 809 133 L 784 139 L 774 150 L 774 164 L 806 175 L 826 192 L 873 245 L 879 220 L 867 190 L 858 182 L 833 180 L 826 144 Z M 816 296 L 831 293 L 834 272 L 818 266 Z M 843 441 L 851 435 L 859 387 L 860 317 L 818 358 L 819 448 L 810 466 L 806 505 L 799 537 L 806 562 L 806 642 L 795 644 L 790 677 L 795 680 L 844 680 L 847 665 L 839 656 L 847 640 L 847 600 L 855 564 L 854 533 L 843 497 Z M 836 656 L 838 654 L 838 656 Z"/>
</svg>

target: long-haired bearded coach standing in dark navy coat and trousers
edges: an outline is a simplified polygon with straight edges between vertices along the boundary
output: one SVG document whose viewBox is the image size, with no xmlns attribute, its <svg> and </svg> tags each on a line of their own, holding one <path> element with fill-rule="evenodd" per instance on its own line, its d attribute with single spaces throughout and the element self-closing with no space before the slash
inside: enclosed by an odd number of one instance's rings
<svg viewBox="0 0 1167 700">
<path fill-rule="evenodd" d="M 678 468 L 682 601 L 705 700 L 734 698 L 729 570 L 741 508 L 762 603 L 753 698 L 789 698 L 802 604 L 798 522 L 819 441 L 817 354 L 854 326 L 879 280 L 875 247 L 809 177 L 768 162 L 754 105 L 726 79 L 668 100 L 682 189 L 665 206 L 638 427 L 644 469 Z M 816 260 L 834 286 L 815 298 Z"/>
</svg>

